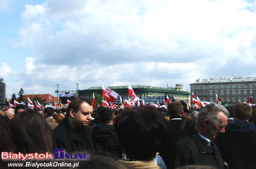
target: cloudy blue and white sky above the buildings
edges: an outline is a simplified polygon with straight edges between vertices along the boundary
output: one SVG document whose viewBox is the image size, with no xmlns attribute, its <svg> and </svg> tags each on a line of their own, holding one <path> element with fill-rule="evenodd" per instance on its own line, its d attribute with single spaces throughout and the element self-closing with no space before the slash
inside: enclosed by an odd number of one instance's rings
<svg viewBox="0 0 256 169">
<path fill-rule="evenodd" d="M 256 3 L 0 0 L 8 98 L 92 86 L 256 76 Z"/>
</svg>

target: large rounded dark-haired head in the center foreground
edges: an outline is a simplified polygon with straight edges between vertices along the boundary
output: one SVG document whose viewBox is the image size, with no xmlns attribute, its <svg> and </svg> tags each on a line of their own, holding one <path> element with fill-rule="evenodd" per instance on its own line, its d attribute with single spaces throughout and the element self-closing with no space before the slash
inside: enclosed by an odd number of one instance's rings
<svg viewBox="0 0 256 169">
<path fill-rule="evenodd" d="M 133 160 L 152 160 L 168 133 L 167 121 L 153 107 L 124 109 L 115 126 L 121 147 Z"/>
</svg>

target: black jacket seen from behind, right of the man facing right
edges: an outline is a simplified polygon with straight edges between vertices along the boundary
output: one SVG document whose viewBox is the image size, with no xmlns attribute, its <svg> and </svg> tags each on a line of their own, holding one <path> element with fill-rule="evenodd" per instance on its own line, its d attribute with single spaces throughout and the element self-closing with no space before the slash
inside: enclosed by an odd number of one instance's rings
<svg viewBox="0 0 256 169">
<path fill-rule="evenodd" d="M 121 147 L 113 125 L 97 125 L 93 128 L 92 138 L 95 150 L 111 153 L 121 159 Z"/>
</svg>

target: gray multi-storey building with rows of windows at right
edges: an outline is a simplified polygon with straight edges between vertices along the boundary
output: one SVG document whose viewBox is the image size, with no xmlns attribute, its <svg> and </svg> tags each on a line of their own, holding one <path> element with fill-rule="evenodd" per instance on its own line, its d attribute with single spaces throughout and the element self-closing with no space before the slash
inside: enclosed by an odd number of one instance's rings
<svg viewBox="0 0 256 169">
<path fill-rule="evenodd" d="M 251 94 L 256 102 L 256 77 L 229 77 L 197 79 L 190 84 L 190 92 L 197 95 L 201 101 L 216 102 L 215 92 L 221 101 L 228 105 L 237 104 L 238 100 L 247 102 Z"/>
</svg>

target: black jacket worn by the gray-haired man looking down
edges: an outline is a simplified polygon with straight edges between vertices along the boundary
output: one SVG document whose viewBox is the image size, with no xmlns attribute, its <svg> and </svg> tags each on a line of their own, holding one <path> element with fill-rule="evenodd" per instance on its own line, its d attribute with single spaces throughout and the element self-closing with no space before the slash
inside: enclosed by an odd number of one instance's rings
<svg viewBox="0 0 256 169">
<path fill-rule="evenodd" d="M 211 146 L 207 144 L 207 141 L 194 128 L 191 129 L 189 134 L 182 137 L 176 144 L 173 167 L 201 164 L 224 168 L 221 153 L 216 144 L 214 142 L 211 142 Z"/>
</svg>

